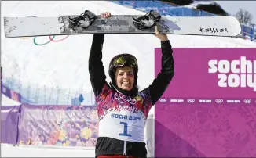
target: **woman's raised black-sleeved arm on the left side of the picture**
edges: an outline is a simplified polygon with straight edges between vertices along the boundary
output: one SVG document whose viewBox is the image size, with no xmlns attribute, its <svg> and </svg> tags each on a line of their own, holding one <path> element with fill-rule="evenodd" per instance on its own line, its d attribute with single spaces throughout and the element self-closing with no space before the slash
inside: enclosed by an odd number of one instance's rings
<svg viewBox="0 0 256 158">
<path fill-rule="evenodd" d="M 96 96 L 101 93 L 101 89 L 106 83 L 104 66 L 101 61 L 103 43 L 104 43 L 104 34 L 93 35 L 93 42 L 90 48 L 90 56 L 89 56 L 89 73 L 90 73 L 90 82 L 93 87 L 93 92 Z"/>
</svg>

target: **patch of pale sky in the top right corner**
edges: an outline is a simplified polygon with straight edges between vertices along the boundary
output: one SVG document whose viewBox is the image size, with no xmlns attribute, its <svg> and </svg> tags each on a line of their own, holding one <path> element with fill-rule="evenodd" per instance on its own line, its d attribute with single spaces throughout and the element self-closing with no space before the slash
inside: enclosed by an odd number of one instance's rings
<svg viewBox="0 0 256 158">
<path fill-rule="evenodd" d="M 247 10 L 252 14 L 252 23 L 256 24 L 256 1 L 215 1 L 221 8 L 231 15 L 235 15 L 236 12 L 241 8 Z"/>
</svg>

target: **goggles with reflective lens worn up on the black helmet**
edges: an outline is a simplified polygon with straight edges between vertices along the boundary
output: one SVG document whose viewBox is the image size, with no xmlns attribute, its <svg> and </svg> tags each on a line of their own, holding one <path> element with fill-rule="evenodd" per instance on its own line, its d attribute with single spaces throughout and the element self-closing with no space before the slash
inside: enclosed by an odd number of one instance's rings
<svg viewBox="0 0 256 158">
<path fill-rule="evenodd" d="M 113 65 L 115 67 L 119 66 L 130 66 L 131 68 L 137 69 L 137 59 L 133 56 L 119 56 L 114 60 Z"/>
</svg>

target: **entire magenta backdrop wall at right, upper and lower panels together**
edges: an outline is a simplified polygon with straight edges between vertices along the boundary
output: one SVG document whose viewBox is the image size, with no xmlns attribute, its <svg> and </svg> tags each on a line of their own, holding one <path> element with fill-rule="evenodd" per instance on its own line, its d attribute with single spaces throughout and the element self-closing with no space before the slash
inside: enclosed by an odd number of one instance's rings
<svg viewBox="0 0 256 158">
<path fill-rule="evenodd" d="M 161 56 L 155 48 L 155 76 Z M 174 48 L 174 79 L 155 105 L 155 156 L 256 156 L 255 59 L 256 48 Z"/>
</svg>

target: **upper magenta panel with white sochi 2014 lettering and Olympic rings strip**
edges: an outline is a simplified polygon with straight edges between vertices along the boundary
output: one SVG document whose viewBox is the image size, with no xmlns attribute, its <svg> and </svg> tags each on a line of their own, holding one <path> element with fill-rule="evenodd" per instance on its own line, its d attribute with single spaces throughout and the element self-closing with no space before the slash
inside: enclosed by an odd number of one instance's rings
<svg viewBox="0 0 256 158">
<path fill-rule="evenodd" d="M 174 48 L 175 75 L 159 102 L 256 105 L 255 52 L 256 48 Z M 155 75 L 160 66 L 161 49 L 155 48 Z"/>
</svg>

